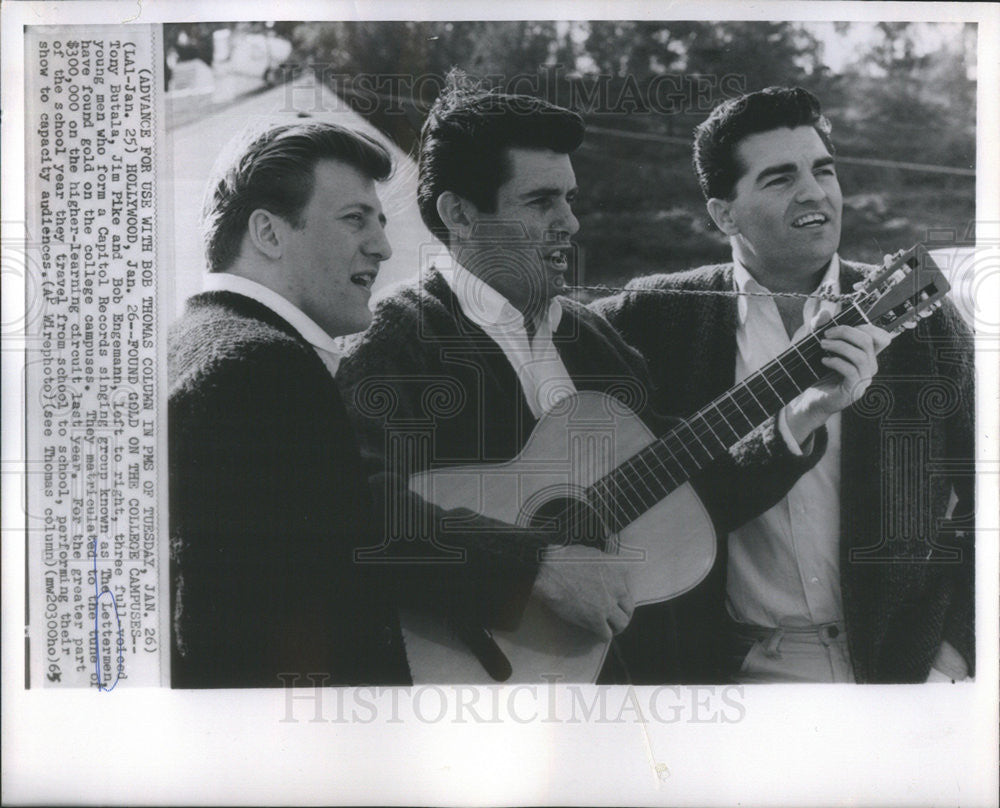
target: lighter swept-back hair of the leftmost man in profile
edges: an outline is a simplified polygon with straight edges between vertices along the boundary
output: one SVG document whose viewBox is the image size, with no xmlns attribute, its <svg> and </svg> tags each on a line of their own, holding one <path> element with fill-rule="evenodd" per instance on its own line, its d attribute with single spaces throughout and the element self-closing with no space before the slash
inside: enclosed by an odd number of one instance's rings
<svg viewBox="0 0 1000 808">
<path fill-rule="evenodd" d="M 339 160 L 373 180 L 392 173 L 385 146 L 332 123 L 293 123 L 246 132 L 216 164 L 202 207 L 210 272 L 224 272 L 240 252 L 250 214 L 263 208 L 301 227 L 312 197 L 316 163 Z"/>
</svg>

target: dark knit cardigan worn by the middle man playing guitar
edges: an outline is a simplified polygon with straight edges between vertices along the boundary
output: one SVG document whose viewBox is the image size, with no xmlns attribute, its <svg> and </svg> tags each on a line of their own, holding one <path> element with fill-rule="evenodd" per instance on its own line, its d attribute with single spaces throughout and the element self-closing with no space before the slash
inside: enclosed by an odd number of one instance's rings
<svg viewBox="0 0 1000 808">
<path fill-rule="evenodd" d="M 603 317 L 572 300 L 560 302 L 553 342 L 577 389 L 619 396 L 654 432 L 673 424 L 651 406 L 656 393 L 643 358 Z M 464 315 L 435 270 L 379 303 L 371 327 L 352 339 L 337 381 L 369 473 L 406 477 L 432 464 L 507 461 L 536 424 L 503 351 Z M 772 417 L 706 469 L 693 483 L 716 530 L 731 530 L 779 501 L 815 464 L 825 441 L 821 430 L 815 450 L 795 457 Z M 521 533 L 511 532 L 508 541 L 510 552 L 529 564 L 537 542 L 522 552 L 516 549 Z M 628 669 L 622 676 L 676 680 L 681 660 L 669 604 L 639 609 L 617 645 Z"/>
</svg>

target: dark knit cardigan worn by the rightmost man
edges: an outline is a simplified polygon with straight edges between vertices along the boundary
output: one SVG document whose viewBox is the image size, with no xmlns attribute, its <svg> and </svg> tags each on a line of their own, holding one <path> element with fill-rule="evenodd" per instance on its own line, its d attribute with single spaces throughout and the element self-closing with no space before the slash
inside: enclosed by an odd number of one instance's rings
<svg viewBox="0 0 1000 808">
<path fill-rule="evenodd" d="M 870 269 L 841 266 L 844 289 Z M 662 291 L 731 290 L 732 264 L 653 275 L 627 288 L 594 309 L 646 357 L 658 410 L 686 415 L 734 384 L 734 299 Z M 946 301 L 917 329 L 897 336 L 878 363 L 874 383 L 842 417 L 841 589 L 855 676 L 921 682 L 942 640 L 972 671 L 971 333 Z M 945 520 L 952 491 L 954 518 Z M 699 631 L 713 634 L 723 620 L 724 538 L 719 549 L 720 569 L 697 604 L 702 611 L 688 615 Z"/>
</svg>

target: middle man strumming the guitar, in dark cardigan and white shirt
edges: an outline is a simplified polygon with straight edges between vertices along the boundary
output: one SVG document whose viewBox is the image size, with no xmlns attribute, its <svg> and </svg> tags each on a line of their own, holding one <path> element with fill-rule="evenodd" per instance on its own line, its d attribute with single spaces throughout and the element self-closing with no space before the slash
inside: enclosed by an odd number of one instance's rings
<svg viewBox="0 0 1000 808">
<path fill-rule="evenodd" d="M 642 357 L 603 317 L 561 295 L 579 229 L 570 155 L 583 135 L 570 110 L 486 91 L 460 71 L 449 76 L 421 132 L 418 190 L 447 266 L 421 268 L 417 283 L 381 300 L 338 375 L 373 470 L 405 478 L 434 465 L 511 460 L 542 415 L 582 390 L 632 391 L 640 415 L 663 429 L 645 406 L 652 391 Z M 373 384 L 392 389 L 391 412 L 365 406 Z M 456 391 L 447 411 L 432 406 L 441 384 Z M 699 475 L 695 487 L 718 523 L 734 527 L 780 499 L 822 453 L 822 422 L 795 422 L 796 440 L 819 431 L 810 451 L 794 456 L 772 416 Z M 405 424 L 430 436 L 411 444 L 422 454 L 387 450 L 387 433 Z M 714 507 L 717 492 L 751 480 L 752 494 Z M 533 573 L 542 603 L 601 638 L 644 638 L 628 643 L 634 653 L 612 654 L 606 678 L 674 678 L 680 660 L 669 629 L 644 631 L 638 614 L 632 621 L 628 565 L 582 545 L 562 557 L 573 563 L 543 560 Z"/>
</svg>

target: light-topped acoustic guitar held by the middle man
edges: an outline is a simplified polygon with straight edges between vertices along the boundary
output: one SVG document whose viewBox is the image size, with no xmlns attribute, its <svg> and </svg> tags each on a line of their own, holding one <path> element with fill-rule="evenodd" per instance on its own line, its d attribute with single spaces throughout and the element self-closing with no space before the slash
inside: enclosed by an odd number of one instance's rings
<svg viewBox="0 0 1000 808">
<path fill-rule="evenodd" d="M 410 489 L 444 509 L 603 547 L 628 566 L 637 607 L 674 598 L 715 560 L 715 532 L 689 480 L 828 374 L 820 363 L 826 329 L 872 323 L 894 332 L 930 313 L 949 288 L 918 244 L 872 275 L 829 323 L 665 435 L 654 436 L 618 399 L 580 392 L 542 416 L 513 460 L 431 469 L 413 475 Z M 547 562 L 559 563 L 558 547 L 548 553 Z M 509 631 L 470 636 L 410 610 L 400 620 L 415 683 L 593 682 L 610 647 L 533 598 Z"/>
</svg>

